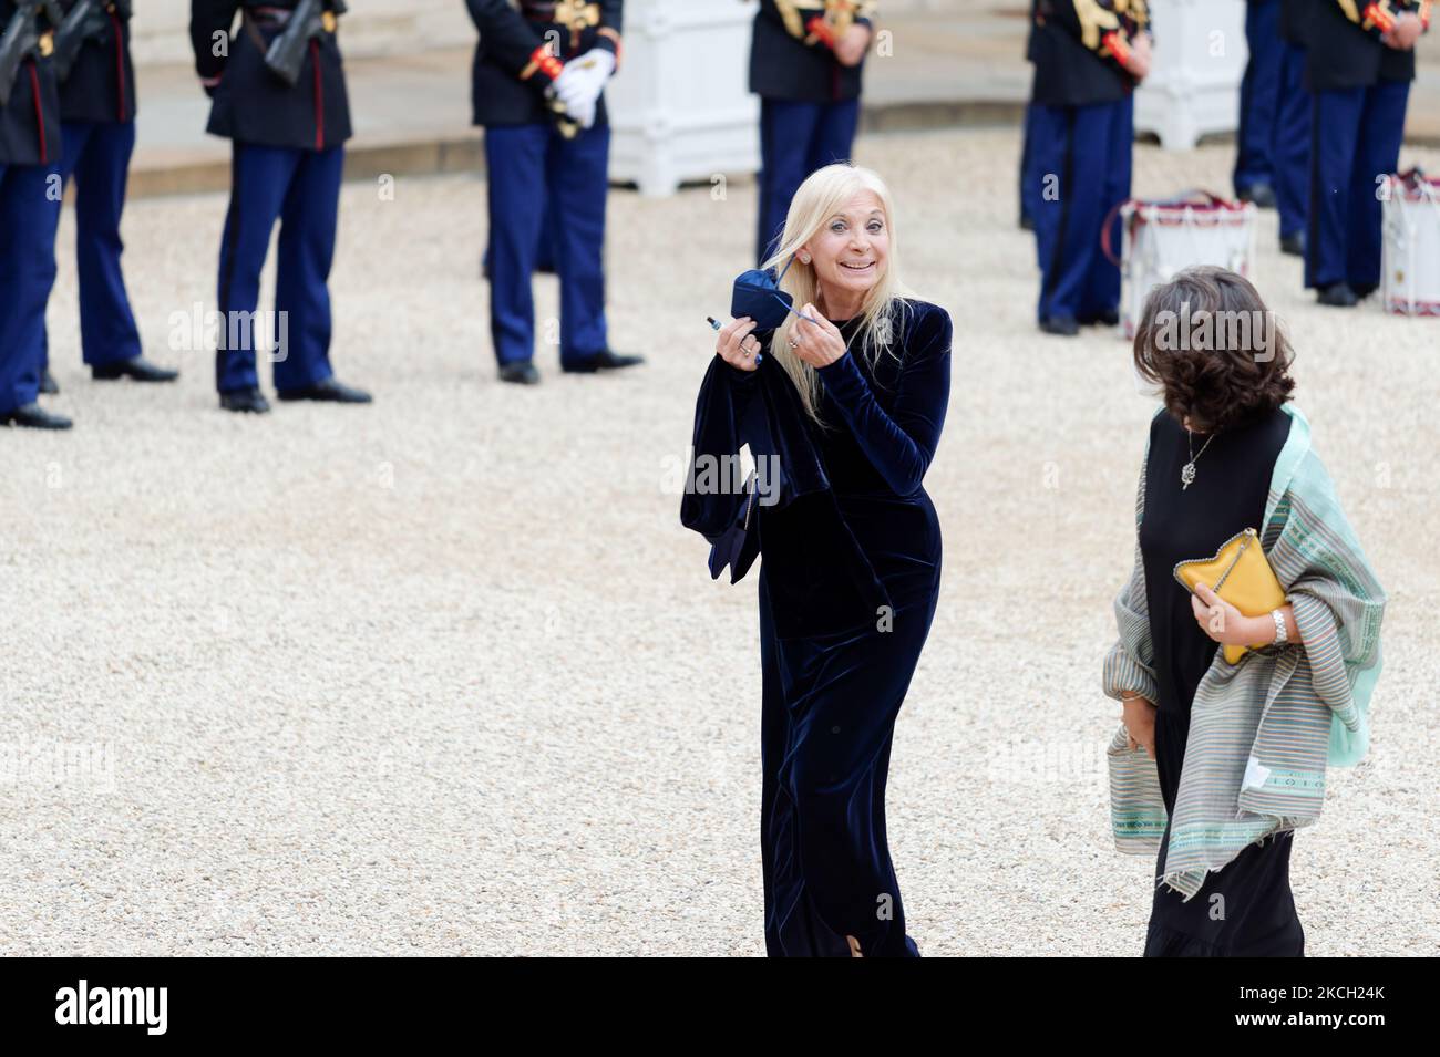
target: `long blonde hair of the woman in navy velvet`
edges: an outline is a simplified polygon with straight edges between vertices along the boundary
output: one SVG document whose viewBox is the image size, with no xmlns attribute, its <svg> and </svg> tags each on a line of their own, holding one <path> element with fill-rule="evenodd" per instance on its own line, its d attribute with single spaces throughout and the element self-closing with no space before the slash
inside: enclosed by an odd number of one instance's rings
<svg viewBox="0 0 1440 1057">
<path fill-rule="evenodd" d="M 851 198 L 861 191 L 870 191 L 880 200 L 880 210 L 884 213 L 886 232 L 890 236 L 890 252 L 886 255 L 886 266 L 878 282 L 865 293 L 861 303 L 861 324 L 857 337 L 865 358 L 874 365 L 881 351 L 894 351 L 894 329 L 901 324 L 897 309 L 903 309 L 909 290 L 900 282 L 899 259 L 896 256 L 896 224 L 894 204 L 890 188 L 880 174 L 841 161 L 825 165 L 811 173 L 809 178 L 795 191 L 791 200 L 791 210 L 785 217 L 785 230 L 780 234 L 780 244 L 775 256 L 760 267 L 775 269 L 780 275 L 780 289 L 795 299 L 795 308 L 819 301 L 819 282 L 815 278 L 815 266 L 802 263 L 795 253 L 801 246 L 814 239 L 819 230 L 834 217 Z M 815 368 L 795 355 L 791 348 L 791 332 L 801 322 L 799 316 L 791 314 L 785 318 L 770 337 L 769 354 L 785 368 L 801 394 L 805 411 L 815 421 L 819 418 L 821 383 Z"/>
</svg>

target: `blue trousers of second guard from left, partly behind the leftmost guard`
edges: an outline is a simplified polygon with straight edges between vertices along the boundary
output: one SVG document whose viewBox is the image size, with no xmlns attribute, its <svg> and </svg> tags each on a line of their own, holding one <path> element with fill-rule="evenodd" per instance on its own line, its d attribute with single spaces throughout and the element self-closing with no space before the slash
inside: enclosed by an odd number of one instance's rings
<svg viewBox="0 0 1440 1057">
<path fill-rule="evenodd" d="M 134 360 L 140 331 L 125 293 L 120 255 L 120 216 L 125 209 L 130 155 L 135 152 L 132 121 L 66 121 L 59 164 L 63 181 L 73 175 L 75 257 L 81 283 L 81 348 L 86 364 Z M 56 210 L 56 220 L 59 211 Z M 49 364 L 49 349 L 42 354 Z"/>
</svg>

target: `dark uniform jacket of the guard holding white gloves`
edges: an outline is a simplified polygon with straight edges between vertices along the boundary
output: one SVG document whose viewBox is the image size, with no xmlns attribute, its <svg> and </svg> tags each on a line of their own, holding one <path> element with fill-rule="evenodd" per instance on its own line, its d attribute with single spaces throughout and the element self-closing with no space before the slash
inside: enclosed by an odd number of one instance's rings
<svg viewBox="0 0 1440 1057">
<path fill-rule="evenodd" d="M 550 121 L 544 89 L 593 47 L 621 59 L 624 0 L 465 0 L 480 30 L 471 66 L 477 125 Z M 609 121 L 605 96 L 595 124 Z"/>
</svg>

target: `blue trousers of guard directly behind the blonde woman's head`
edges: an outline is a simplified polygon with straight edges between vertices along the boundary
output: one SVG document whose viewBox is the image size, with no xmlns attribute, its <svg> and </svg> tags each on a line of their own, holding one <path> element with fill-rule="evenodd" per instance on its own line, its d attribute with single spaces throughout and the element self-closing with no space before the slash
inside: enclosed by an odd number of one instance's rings
<svg viewBox="0 0 1440 1057">
<path fill-rule="evenodd" d="M 858 98 L 760 99 L 760 219 L 755 242 L 759 263 L 776 249 L 791 200 L 805 177 L 832 163 L 850 161 L 858 127 Z"/>
</svg>

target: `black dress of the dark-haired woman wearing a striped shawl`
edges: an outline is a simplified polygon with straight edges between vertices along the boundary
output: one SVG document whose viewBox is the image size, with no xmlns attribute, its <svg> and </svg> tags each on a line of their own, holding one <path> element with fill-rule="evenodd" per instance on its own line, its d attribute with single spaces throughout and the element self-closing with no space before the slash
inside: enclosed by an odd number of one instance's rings
<svg viewBox="0 0 1440 1057">
<path fill-rule="evenodd" d="M 1220 649 L 1201 630 L 1189 591 L 1175 580 L 1175 564 L 1210 558 L 1247 528 L 1263 532 L 1276 457 L 1290 431 L 1280 408 L 1223 430 L 1195 459 L 1195 480 L 1181 488 L 1189 462 L 1185 429 L 1169 414 L 1151 426 L 1145 476 L 1140 555 L 1155 646 L 1155 755 L 1165 810 L 1175 811 L 1189 710 L 1200 680 Z M 1207 437 L 1195 434 L 1200 453 Z M 1240 663 L 1244 663 L 1241 660 Z M 1305 932 L 1290 894 L 1290 831 L 1248 846 L 1188 902 L 1159 884 L 1169 825 L 1155 867 L 1156 889 L 1146 956 L 1299 956 Z"/>
</svg>

